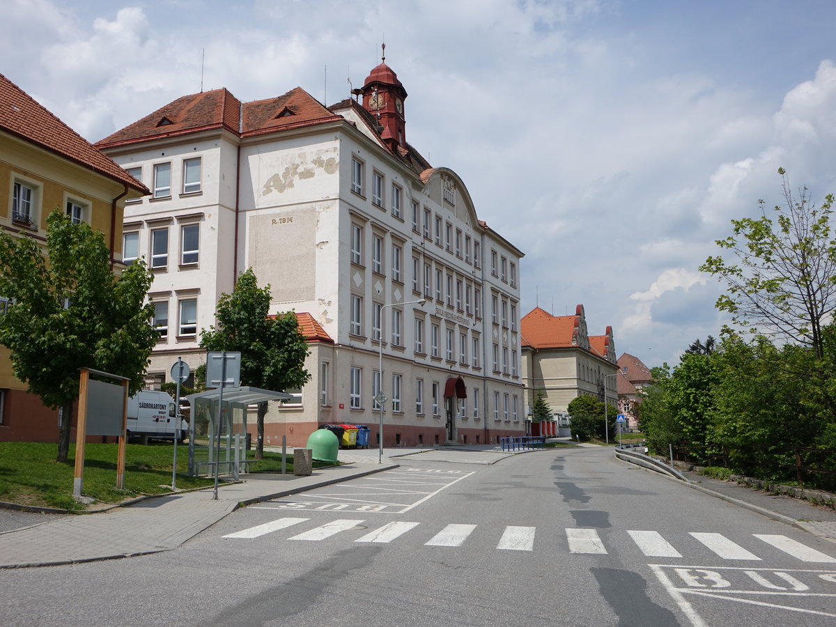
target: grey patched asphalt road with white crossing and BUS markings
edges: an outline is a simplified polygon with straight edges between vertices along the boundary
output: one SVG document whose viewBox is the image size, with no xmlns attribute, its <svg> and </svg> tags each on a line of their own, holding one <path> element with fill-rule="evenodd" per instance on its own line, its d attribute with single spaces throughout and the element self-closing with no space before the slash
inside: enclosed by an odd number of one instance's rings
<svg viewBox="0 0 836 627">
<path fill-rule="evenodd" d="M 454 453 L 400 458 L 399 469 L 247 507 L 167 553 L 0 571 L 0 619 L 299 627 L 836 619 L 836 543 L 609 450 L 538 451 L 493 465 Z"/>
</svg>

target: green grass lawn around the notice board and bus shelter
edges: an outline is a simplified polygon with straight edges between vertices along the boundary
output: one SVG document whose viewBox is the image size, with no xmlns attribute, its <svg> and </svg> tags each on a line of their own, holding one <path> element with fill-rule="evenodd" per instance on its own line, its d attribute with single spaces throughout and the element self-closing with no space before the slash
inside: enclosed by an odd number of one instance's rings
<svg viewBox="0 0 836 627">
<path fill-rule="evenodd" d="M 57 507 L 84 512 L 87 507 L 73 497 L 75 446 L 69 446 L 69 461 L 55 461 L 58 445 L 40 442 L 0 442 L 0 501 L 38 507 Z M 146 494 L 171 492 L 171 443 L 129 444 L 125 450 L 125 489 L 116 486 L 116 445 L 84 446 L 82 492 L 98 502 L 119 503 Z M 249 457 L 252 457 L 252 451 Z M 186 475 L 189 447 L 177 447 L 177 489 L 206 487 L 212 478 Z M 250 466 L 253 472 L 281 472 L 281 453 L 265 451 L 264 460 Z M 314 467 L 329 466 L 314 462 Z M 293 456 L 288 456 L 293 472 Z"/>
</svg>

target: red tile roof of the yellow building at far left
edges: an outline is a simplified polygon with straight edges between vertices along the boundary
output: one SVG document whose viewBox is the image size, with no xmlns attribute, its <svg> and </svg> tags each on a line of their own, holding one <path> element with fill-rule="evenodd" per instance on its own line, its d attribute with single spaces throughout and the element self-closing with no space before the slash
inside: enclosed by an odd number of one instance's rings
<svg viewBox="0 0 836 627">
<path fill-rule="evenodd" d="M 18 85 L 0 74 L 0 130 L 17 135 L 102 176 L 149 193 L 88 140 L 65 125 Z"/>
</svg>

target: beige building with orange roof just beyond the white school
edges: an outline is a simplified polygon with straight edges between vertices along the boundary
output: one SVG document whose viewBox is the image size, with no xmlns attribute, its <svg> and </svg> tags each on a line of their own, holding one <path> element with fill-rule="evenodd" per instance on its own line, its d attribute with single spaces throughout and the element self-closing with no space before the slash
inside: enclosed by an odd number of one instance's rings
<svg viewBox="0 0 836 627">
<path fill-rule="evenodd" d="M 531 406 L 539 390 L 553 412 L 565 412 L 577 396 L 588 394 L 615 405 L 618 366 L 612 327 L 587 334 L 584 305 L 571 316 L 553 316 L 534 308 L 520 321 L 523 381 Z M 528 414 L 528 410 L 526 412 Z"/>
</svg>

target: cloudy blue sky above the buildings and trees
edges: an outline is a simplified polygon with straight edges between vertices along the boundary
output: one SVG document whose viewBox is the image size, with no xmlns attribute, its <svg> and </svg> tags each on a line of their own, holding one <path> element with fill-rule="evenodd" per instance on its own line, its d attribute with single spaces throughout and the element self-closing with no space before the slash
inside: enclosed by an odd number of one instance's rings
<svg viewBox="0 0 836 627">
<path fill-rule="evenodd" d="M 333 104 L 380 63 L 408 140 L 526 253 L 523 312 L 583 303 L 649 365 L 717 335 L 698 266 L 836 191 L 832 0 L 2 0 L 0 73 L 91 141 L 201 89 Z M 33 36 L 37 33 L 37 36 Z"/>
</svg>

